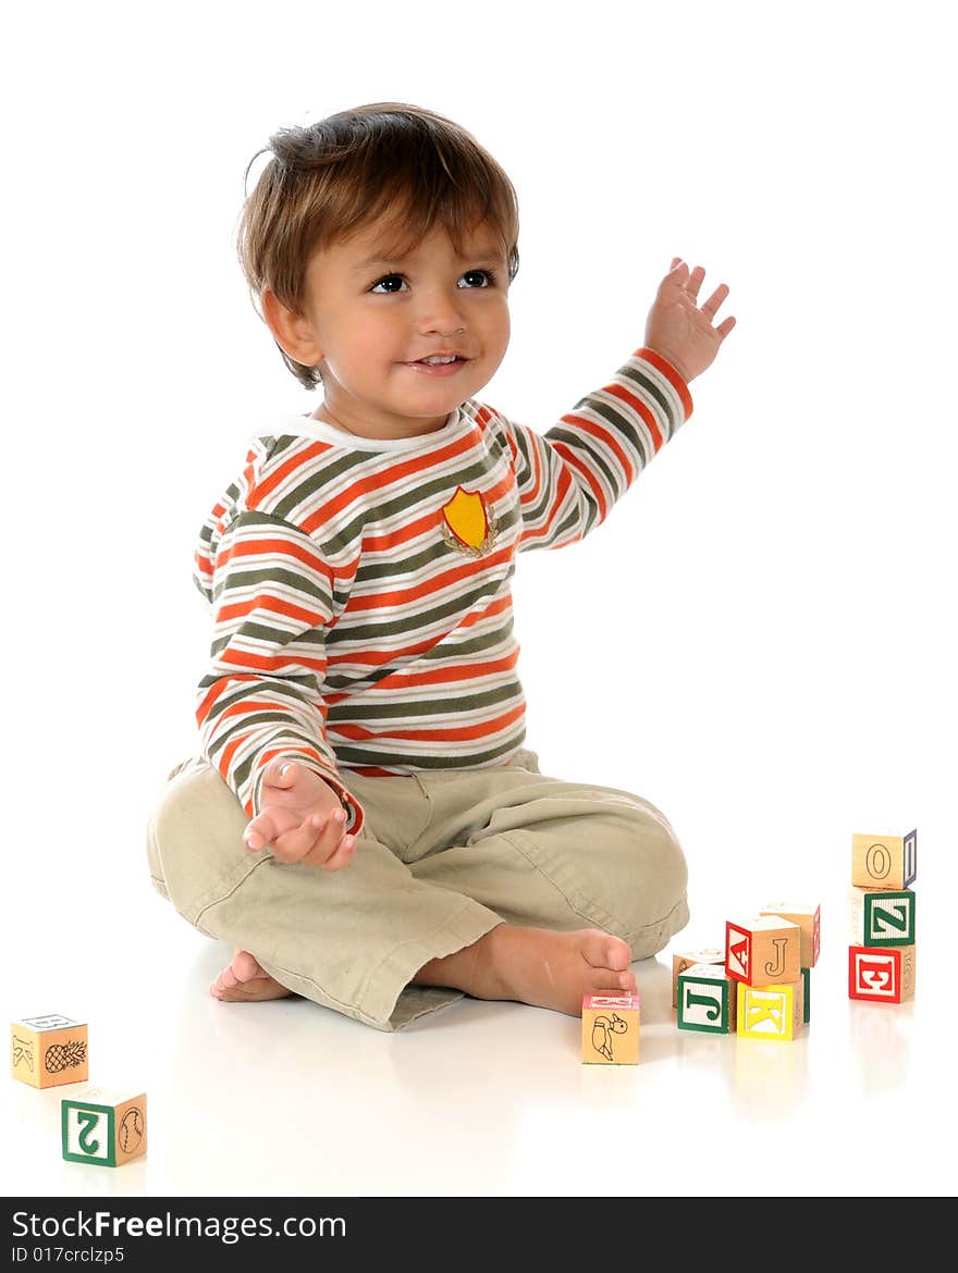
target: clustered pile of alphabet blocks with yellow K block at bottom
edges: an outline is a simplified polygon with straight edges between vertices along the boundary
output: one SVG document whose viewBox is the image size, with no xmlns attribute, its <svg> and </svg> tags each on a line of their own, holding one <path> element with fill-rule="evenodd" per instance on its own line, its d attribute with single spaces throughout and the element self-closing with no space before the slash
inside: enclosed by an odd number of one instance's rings
<svg viewBox="0 0 958 1273">
<path fill-rule="evenodd" d="M 776 901 L 725 924 L 724 951 L 687 964 L 673 957 L 679 1030 L 736 1034 L 787 1043 L 810 1018 L 811 969 L 818 962 L 822 910 Z"/>
</svg>

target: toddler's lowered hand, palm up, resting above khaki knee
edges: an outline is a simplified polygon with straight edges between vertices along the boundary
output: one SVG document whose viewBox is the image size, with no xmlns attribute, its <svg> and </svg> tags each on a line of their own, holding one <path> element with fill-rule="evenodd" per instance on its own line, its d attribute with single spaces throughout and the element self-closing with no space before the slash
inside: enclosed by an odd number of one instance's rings
<svg viewBox="0 0 958 1273">
<path fill-rule="evenodd" d="M 344 834 L 339 796 L 306 765 L 275 760 L 262 779 L 260 812 L 247 822 L 243 841 L 259 852 L 270 847 L 279 862 L 341 871 L 353 861 L 355 836 Z"/>
</svg>

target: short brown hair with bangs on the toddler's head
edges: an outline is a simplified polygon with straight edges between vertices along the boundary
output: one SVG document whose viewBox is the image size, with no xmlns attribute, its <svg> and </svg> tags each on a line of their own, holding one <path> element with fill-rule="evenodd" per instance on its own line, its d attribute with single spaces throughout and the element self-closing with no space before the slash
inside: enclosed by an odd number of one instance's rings
<svg viewBox="0 0 958 1273">
<path fill-rule="evenodd" d="M 383 246 L 404 256 L 438 223 L 457 252 L 480 222 L 499 238 L 508 280 L 518 271 L 518 200 L 512 182 L 475 137 L 442 115 L 404 102 L 373 102 L 325 120 L 280 129 L 246 168 L 273 158 L 246 196 L 237 248 L 254 308 L 269 286 L 302 314 L 306 267 L 315 252 L 385 218 L 403 242 Z M 246 179 L 245 177 L 245 179 Z M 279 345 L 276 346 L 279 348 Z M 321 383 L 280 348 L 307 390 Z"/>
</svg>

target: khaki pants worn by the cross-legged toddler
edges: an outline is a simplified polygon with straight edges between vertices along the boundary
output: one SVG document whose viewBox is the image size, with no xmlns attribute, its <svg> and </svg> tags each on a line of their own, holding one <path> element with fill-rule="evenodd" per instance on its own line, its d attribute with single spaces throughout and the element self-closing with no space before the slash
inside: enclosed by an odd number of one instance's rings
<svg viewBox="0 0 958 1273">
<path fill-rule="evenodd" d="M 688 923 L 685 859 L 665 817 L 608 787 L 508 765 L 349 775 L 366 810 L 344 871 L 251 853 L 215 769 L 173 770 L 148 833 L 155 889 L 200 932 L 250 951 L 288 989 L 378 1030 L 462 997 L 410 985 L 501 922 L 601 928 L 633 959 Z"/>
</svg>

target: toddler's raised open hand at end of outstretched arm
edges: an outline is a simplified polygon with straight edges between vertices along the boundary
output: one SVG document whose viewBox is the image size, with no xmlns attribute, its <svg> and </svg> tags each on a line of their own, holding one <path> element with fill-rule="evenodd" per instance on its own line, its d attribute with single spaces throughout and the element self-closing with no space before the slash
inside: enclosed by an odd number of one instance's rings
<svg viewBox="0 0 958 1273">
<path fill-rule="evenodd" d="M 724 283 L 704 304 L 698 304 L 704 276 L 701 265 L 689 271 L 682 257 L 674 257 L 646 320 L 646 348 L 670 362 L 687 383 L 712 365 L 719 346 L 735 326 L 733 317 L 713 326 L 716 311 L 729 295 Z"/>
</svg>

